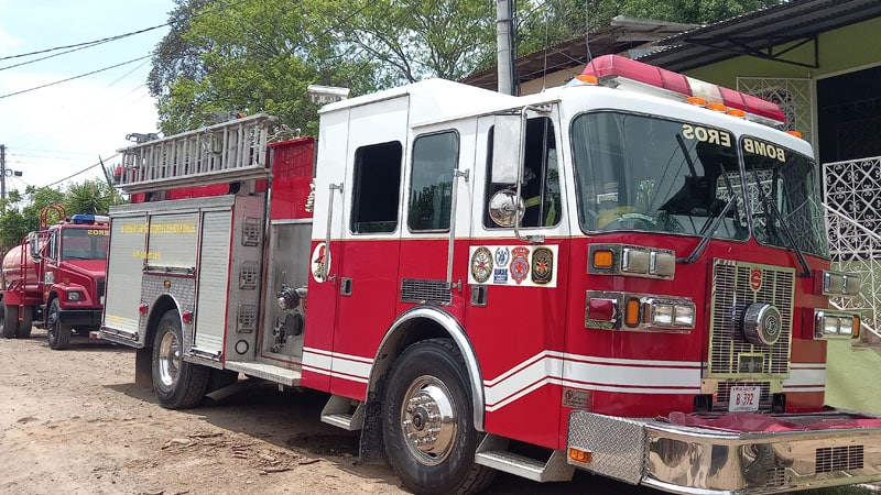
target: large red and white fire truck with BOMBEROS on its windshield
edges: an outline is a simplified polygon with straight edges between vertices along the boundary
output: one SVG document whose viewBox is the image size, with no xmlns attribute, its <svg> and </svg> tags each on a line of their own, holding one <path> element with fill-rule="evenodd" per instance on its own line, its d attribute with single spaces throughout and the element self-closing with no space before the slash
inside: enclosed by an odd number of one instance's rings
<svg viewBox="0 0 881 495">
<path fill-rule="evenodd" d="M 322 420 L 417 493 L 878 481 L 881 420 L 824 406 L 827 340 L 859 331 L 828 296 L 859 277 L 829 270 L 784 121 L 607 56 L 540 95 L 330 103 L 317 144 L 255 116 L 135 145 L 99 337 L 168 408 L 230 372 L 327 392 Z"/>
</svg>

